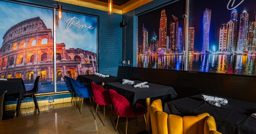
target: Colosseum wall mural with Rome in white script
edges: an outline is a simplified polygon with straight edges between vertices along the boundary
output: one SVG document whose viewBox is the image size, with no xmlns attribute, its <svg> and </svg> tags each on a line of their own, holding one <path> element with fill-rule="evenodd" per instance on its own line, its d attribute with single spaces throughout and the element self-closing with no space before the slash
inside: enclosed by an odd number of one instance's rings
<svg viewBox="0 0 256 134">
<path fill-rule="evenodd" d="M 19 15 L 19 12 L 22 14 Z M 56 57 L 53 56 L 53 10 L 0 1 L 1 78 L 22 78 L 26 89 L 54 92 L 56 58 L 57 92 L 68 90 L 65 75 L 76 78 L 97 71 L 97 18 L 63 12 L 56 22 Z M 10 15 L 11 14 L 11 15 Z"/>
</svg>

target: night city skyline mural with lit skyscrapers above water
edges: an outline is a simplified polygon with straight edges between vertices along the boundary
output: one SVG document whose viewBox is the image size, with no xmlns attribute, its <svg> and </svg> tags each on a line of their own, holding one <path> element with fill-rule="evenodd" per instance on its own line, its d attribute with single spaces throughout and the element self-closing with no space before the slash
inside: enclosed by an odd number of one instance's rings
<svg viewBox="0 0 256 134">
<path fill-rule="evenodd" d="M 178 3 L 182 2 L 178 1 L 167 6 L 170 6 L 168 8 L 176 12 L 179 11 L 176 9 L 179 8 L 178 5 L 176 5 Z M 254 53 L 256 42 L 255 5 L 256 1 L 253 0 L 191 0 L 188 31 L 188 70 L 256 75 Z M 167 6 L 163 8 L 166 9 Z M 180 12 L 181 14 L 183 13 L 183 11 Z M 174 15 L 174 13 L 172 14 Z M 149 12 L 145 16 L 152 17 L 153 15 L 155 14 Z M 143 17 L 141 18 L 148 20 Z M 138 16 L 137 67 L 183 70 L 183 52 L 180 52 L 180 43 L 178 42 L 183 40 L 184 37 L 177 32 L 179 30 L 176 30 L 174 34 L 170 32 L 169 35 L 167 31 L 169 42 L 167 42 L 166 45 L 172 46 L 174 42 L 177 49 L 172 48 L 168 52 L 168 48 L 166 47 L 166 53 L 163 51 L 163 53 L 159 53 L 161 52 L 159 51 L 159 46 L 161 47 L 162 39 L 159 37 L 161 34 L 156 34 L 158 35 L 155 41 L 155 44 L 158 45 L 157 53 L 143 53 L 143 49 L 141 48 L 143 48 L 142 39 L 146 39 L 144 38 L 145 35 L 148 34 L 149 47 L 151 42 L 154 44 L 154 40 L 152 40 L 152 32 L 145 32 L 148 29 L 152 29 L 152 27 L 146 27 L 147 24 L 145 24 L 145 22 L 144 28 L 146 30 L 144 30 L 143 27 L 139 27 L 142 25 L 141 18 Z M 180 26 L 180 23 L 182 22 L 179 22 L 176 27 L 178 27 L 178 29 L 182 28 L 183 30 L 184 28 Z M 171 29 L 171 26 L 169 28 Z M 167 25 L 167 30 L 169 30 L 169 28 Z M 154 29 L 156 31 L 156 29 L 160 29 L 160 27 L 155 26 Z M 140 37 L 141 35 L 143 38 Z M 173 41 L 173 39 L 176 42 Z"/>
</svg>

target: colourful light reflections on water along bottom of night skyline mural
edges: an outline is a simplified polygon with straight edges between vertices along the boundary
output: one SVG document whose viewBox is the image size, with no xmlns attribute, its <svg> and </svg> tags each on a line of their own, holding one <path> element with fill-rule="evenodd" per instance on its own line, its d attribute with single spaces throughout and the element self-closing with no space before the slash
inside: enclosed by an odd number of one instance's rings
<svg viewBox="0 0 256 134">
<path fill-rule="evenodd" d="M 137 67 L 182 70 L 182 61 L 182 55 L 137 56 Z M 189 55 L 188 71 L 256 75 L 256 60 L 242 55 Z"/>
</svg>

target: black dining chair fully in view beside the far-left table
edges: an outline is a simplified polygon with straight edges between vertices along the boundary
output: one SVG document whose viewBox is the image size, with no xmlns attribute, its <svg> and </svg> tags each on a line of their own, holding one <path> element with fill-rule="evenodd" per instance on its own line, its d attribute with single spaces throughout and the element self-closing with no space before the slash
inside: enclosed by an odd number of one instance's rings
<svg viewBox="0 0 256 134">
<path fill-rule="evenodd" d="M 23 97 L 23 98 L 33 98 L 34 103 L 35 103 L 35 107 L 36 107 L 38 113 L 40 113 L 40 111 L 39 111 L 39 108 L 38 108 L 38 104 L 37 104 L 37 100 L 36 100 L 35 94 L 36 94 L 37 91 L 38 91 L 38 82 L 39 82 L 39 78 L 40 78 L 40 76 L 37 76 L 37 77 L 36 77 L 36 80 L 35 80 L 35 84 L 34 84 L 33 89 L 26 91 L 26 94 L 25 94 L 24 97 Z M 18 100 L 18 104 L 17 104 L 17 107 L 16 107 L 16 117 L 19 116 L 20 104 L 21 104 L 21 99 Z"/>
</svg>

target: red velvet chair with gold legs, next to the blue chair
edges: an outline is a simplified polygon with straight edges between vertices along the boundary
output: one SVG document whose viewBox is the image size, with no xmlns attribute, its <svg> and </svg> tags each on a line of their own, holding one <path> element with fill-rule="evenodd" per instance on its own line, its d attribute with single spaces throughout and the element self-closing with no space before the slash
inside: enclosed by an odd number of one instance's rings
<svg viewBox="0 0 256 134">
<path fill-rule="evenodd" d="M 96 115 L 97 115 L 97 109 L 99 107 L 99 105 L 104 105 L 104 123 L 103 125 L 105 126 L 105 105 L 110 105 L 111 106 L 111 112 L 112 112 L 112 101 L 110 99 L 110 96 L 108 94 L 108 92 L 106 91 L 106 89 L 104 89 L 103 87 L 95 84 L 95 83 L 91 83 L 92 86 L 92 93 L 94 96 L 94 102 L 97 104 L 96 106 L 96 113 L 95 113 L 95 117 L 94 119 L 96 120 Z M 112 112 L 113 115 L 113 112 Z"/>
</svg>

